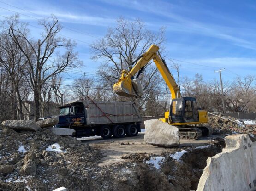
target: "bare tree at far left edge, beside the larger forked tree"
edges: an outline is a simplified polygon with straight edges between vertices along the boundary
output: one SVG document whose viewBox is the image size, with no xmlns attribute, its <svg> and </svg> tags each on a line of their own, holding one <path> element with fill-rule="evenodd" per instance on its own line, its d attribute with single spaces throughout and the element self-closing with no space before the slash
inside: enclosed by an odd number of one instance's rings
<svg viewBox="0 0 256 191">
<path fill-rule="evenodd" d="M 24 97 L 29 93 L 27 89 L 26 82 L 26 71 L 27 71 L 27 61 L 24 54 L 18 47 L 16 43 L 13 42 L 12 36 L 8 33 L 6 29 L 6 22 L 14 22 L 17 16 L 11 17 L 9 20 L 2 22 L 0 33 L 0 63 L 1 67 L 7 71 L 12 80 L 10 88 L 12 93 L 8 94 L 12 100 L 12 113 L 13 119 L 16 119 L 17 111 L 18 118 L 23 118 L 22 103 Z M 14 22 L 15 23 L 15 22 Z M 24 47 L 24 41 L 20 42 L 20 45 Z"/>
</svg>

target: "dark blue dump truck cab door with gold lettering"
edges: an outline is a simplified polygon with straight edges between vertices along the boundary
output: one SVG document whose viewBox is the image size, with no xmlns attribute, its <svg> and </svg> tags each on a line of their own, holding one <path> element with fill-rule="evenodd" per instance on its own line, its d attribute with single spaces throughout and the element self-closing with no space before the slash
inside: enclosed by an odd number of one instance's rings
<svg viewBox="0 0 256 191">
<path fill-rule="evenodd" d="M 83 127 L 85 124 L 85 118 L 84 118 L 84 107 L 81 106 L 71 106 L 70 111 L 70 126 L 72 128 L 79 128 Z"/>
</svg>

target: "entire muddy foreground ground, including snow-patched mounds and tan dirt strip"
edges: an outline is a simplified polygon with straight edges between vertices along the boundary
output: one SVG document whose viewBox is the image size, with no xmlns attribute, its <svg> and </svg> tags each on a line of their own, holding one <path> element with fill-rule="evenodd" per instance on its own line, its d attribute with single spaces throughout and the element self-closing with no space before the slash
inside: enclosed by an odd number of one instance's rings
<svg viewBox="0 0 256 191">
<path fill-rule="evenodd" d="M 196 190 L 207 158 L 222 151 L 229 133 L 219 127 L 214 132 L 181 140 L 179 148 L 161 148 L 145 144 L 144 133 L 78 140 L 48 129 L 16 132 L 0 126 L 0 191 Z"/>
</svg>

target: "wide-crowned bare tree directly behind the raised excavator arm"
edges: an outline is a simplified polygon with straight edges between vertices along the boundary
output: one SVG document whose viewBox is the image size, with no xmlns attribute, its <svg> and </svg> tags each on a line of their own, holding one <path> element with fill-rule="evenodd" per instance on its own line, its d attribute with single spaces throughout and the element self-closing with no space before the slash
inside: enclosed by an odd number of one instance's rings
<svg viewBox="0 0 256 191">
<path fill-rule="evenodd" d="M 92 59 L 102 62 L 98 74 L 104 80 L 105 87 L 112 89 L 113 84 L 119 79 L 122 70 L 131 69 L 132 64 L 149 47 L 156 44 L 164 50 L 165 41 L 164 29 L 154 33 L 148 29 L 140 19 L 128 21 L 120 17 L 117 19 L 116 28 L 109 28 L 105 37 L 91 45 Z M 150 64 L 149 64 L 150 65 Z M 144 68 L 144 74 L 140 75 L 140 81 L 143 84 L 145 94 L 139 101 L 139 107 L 142 108 L 149 96 L 149 89 L 153 82 L 159 78 L 157 68 Z M 113 98 L 127 100 L 113 95 Z M 134 100 L 136 101 L 136 100 Z"/>
</svg>

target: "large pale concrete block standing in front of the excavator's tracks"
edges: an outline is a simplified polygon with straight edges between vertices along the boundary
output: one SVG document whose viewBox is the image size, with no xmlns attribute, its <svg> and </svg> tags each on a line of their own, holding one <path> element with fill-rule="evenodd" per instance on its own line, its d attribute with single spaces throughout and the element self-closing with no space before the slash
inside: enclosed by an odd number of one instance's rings
<svg viewBox="0 0 256 191">
<path fill-rule="evenodd" d="M 144 121 L 144 141 L 147 144 L 163 147 L 179 146 L 179 129 L 158 119 Z"/>
</svg>

